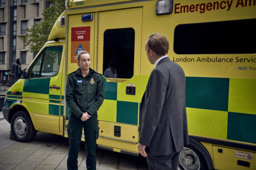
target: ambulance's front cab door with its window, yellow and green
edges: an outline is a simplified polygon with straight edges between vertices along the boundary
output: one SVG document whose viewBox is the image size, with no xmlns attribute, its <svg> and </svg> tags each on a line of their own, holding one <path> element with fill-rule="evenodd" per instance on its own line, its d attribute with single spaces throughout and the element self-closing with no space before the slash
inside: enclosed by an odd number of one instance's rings
<svg viewBox="0 0 256 170">
<path fill-rule="evenodd" d="M 44 49 L 49 50 L 44 52 Z M 45 56 L 43 74 L 51 75 L 24 80 L 22 99 L 29 106 L 35 120 L 35 128 L 39 131 L 60 133 L 61 81 L 65 54 L 63 49 L 65 49 L 64 43 L 46 45 L 37 58 Z M 33 61 L 32 68 L 36 68 L 37 58 Z M 56 71 L 56 75 L 52 75 L 52 69 Z"/>
</svg>

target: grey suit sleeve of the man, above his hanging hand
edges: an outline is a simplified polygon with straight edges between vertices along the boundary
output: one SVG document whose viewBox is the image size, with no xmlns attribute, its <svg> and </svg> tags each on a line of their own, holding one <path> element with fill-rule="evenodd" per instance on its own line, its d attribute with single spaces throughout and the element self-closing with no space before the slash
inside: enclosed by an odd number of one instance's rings
<svg viewBox="0 0 256 170">
<path fill-rule="evenodd" d="M 148 95 L 145 101 L 145 112 L 141 120 L 139 137 L 139 143 L 147 147 L 150 146 L 160 120 L 167 86 L 168 84 L 163 73 L 159 70 L 153 70 L 149 78 L 149 84 L 147 85 L 148 89 L 146 89 Z"/>
</svg>

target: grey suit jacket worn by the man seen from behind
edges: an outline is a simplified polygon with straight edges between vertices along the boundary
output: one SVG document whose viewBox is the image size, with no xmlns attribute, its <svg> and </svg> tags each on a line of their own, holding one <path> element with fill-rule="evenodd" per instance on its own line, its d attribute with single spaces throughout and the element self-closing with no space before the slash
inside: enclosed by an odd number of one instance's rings
<svg viewBox="0 0 256 170">
<path fill-rule="evenodd" d="M 139 142 L 149 156 L 179 152 L 189 144 L 183 69 L 168 57 L 152 70 L 140 106 Z"/>
</svg>

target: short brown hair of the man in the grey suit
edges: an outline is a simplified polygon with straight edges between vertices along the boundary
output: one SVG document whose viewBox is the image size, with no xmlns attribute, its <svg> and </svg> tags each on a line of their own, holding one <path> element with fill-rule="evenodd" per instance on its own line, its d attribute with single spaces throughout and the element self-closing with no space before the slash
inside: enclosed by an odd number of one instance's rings
<svg viewBox="0 0 256 170">
<path fill-rule="evenodd" d="M 169 50 L 168 39 L 159 33 L 151 34 L 146 40 L 147 47 L 157 55 L 166 55 Z"/>
</svg>

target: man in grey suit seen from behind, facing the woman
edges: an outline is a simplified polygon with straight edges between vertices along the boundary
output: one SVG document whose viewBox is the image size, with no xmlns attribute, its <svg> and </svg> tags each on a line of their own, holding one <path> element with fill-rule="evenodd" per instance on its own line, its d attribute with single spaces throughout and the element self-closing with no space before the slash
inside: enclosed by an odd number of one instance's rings
<svg viewBox="0 0 256 170">
<path fill-rule="evenodd" d="M 169 42 L 164 35 L 150 35 L 145 50 L 155 69 L 141 101 L 137 147 L 149 169 L 177 169 L 179 153 L 189 144 L 185 74 L 166 55 Z"/>
</svg>

